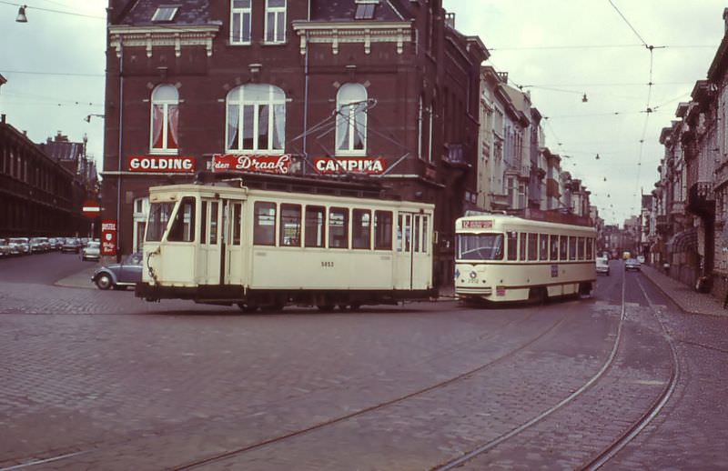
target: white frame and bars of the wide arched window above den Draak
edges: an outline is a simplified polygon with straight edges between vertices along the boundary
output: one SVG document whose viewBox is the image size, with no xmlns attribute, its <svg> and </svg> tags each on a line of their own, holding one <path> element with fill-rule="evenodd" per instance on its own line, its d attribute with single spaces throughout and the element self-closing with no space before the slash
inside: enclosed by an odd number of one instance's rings
<svg viewBox="0 0 728 471">
<path fill-rule="evenodd" d="M 246 97 L 246 88 L 250 86 L 268 86 L 268 99 L 248 99 Z M 238 99 L 233 99 L 233 96 L 238 92 Z M 238 106 L 238 147 L 230 147 L 228 145 L 230 126 L 228 125 L 228 119 L 230 116 L 229 107 L 230 105 Z M 244 147 L 244 106 L 253 106 L 253 146 L 252 148 Z M 283 105 L 283 130 L 280 135 L 281 148 L 273 148 L 273 131 L 275 125 L 275 106 Z M 258 125 L 260 119 L 260 106 L 268 106 L 268 148 L 258 147 Z M 259 153 L 264 152 L 266 155 L 282 155 L 285 153 L 286 148 L 286 93 L 275 85 L 269 84 L 252 84 L 252 85 L 240 85 L 230 90 L 227 94 L 226 105 L 225 105 L 225 147 L 228 153 Z"/>
</svg>

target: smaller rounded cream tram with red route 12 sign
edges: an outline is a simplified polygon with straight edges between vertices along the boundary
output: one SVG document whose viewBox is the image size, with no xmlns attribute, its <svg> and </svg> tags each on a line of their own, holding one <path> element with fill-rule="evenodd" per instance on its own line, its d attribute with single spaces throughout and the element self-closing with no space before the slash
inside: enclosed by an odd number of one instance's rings
<svg viewBox="0 0 728 471">
<path fill-rule="evenodd" d="M 482 214 L 460 217 L 455 232 L 455 295 L 465 302 L 586 295 L 596 281 L 593 227 Z"/>
</svg>

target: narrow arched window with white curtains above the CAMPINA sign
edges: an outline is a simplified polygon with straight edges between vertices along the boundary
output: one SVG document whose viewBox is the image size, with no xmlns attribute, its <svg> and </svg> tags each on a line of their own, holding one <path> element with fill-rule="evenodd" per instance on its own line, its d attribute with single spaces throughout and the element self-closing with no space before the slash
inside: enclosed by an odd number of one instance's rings
<svg viewBox="0 0 728 471">
<path fill-rule="evenodd" d="M 336 97 L 336 153 L 367 153 L 367 89 L 364 85 L 345 84 Z"/>
</svg>

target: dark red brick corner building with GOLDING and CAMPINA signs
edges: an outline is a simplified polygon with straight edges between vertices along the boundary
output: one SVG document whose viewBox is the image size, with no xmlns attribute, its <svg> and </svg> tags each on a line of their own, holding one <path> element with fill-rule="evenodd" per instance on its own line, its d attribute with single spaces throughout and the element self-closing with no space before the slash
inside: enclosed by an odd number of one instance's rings
<svg viewBox="0 0 728 471">
<path fill-rule="evenodd" d="M 141 246 L 149 186 L 190 182 L 215 155 L 283 158 L 291 178 L 367 168 L 434 203 L 436 279 L 451 279 L 489 53 L 441 0 L 109 6 L 103 207 L 119 253 Z"/>
</svg>

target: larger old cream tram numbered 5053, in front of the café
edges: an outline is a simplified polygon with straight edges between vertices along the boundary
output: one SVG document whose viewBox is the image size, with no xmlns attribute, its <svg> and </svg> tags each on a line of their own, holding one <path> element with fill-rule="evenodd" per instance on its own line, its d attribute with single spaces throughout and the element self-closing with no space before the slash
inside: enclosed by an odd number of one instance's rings
<svg viewBox="0 0 728 471">
<path fill-rule="evenodd" d="M 434 205 L 237 182 L 149 190 L 136 296 L 244 311 L 357 308 L 436 295 Z"/>
</svg>

